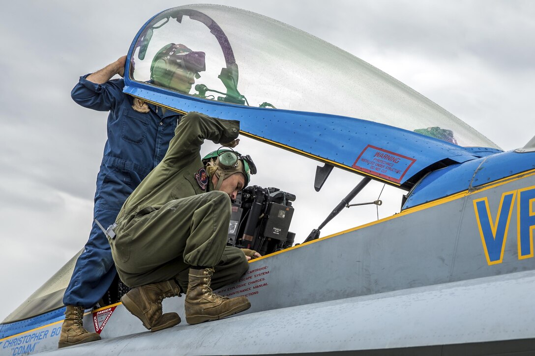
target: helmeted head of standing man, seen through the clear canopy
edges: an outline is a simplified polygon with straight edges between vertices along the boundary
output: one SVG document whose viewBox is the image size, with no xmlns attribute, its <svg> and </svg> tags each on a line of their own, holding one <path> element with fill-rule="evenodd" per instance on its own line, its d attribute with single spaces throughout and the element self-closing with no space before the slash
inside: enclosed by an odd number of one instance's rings
<svg viewBox="0 0 535 356">
<path fill-rule="evenodd" d="M 150 79 L 155 84 L 189 92 L 188 86 L 201 78 L 198 72 L 206 70 L 204 55 L 204 52 L 192 51 L 184 44 L 166 44 L 152 59 Z"/>
</svg>

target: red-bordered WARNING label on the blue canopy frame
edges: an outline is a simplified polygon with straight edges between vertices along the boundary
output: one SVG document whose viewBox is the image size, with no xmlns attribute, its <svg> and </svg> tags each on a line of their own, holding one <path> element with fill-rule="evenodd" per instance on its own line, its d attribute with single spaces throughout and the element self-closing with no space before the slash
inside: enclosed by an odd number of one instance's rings
<svg viewBox="0 0 535 356">
<path fill-rule="evenodd" d="M 368 145 L 358 156 L 353 168 L 400 183 L 414 162 L 414 158 Z"/>
</svg>

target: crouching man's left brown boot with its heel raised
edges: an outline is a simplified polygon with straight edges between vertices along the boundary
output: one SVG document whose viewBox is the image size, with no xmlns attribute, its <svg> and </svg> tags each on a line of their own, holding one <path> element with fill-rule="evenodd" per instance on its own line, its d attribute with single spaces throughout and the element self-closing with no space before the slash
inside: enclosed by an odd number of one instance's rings
<svg viewBox="0 0 535 356">
<path fill-rule="evenodd" d="M 180 323 L 177 313 L 162 315 L 162 300 L 180 297 L 180 288 L 175 281 L 165 281 L 135 287 L 126 293 L 121 301 L 125 308 L 143 322 L 150 331 L 158 331 Z"/>
</svg>

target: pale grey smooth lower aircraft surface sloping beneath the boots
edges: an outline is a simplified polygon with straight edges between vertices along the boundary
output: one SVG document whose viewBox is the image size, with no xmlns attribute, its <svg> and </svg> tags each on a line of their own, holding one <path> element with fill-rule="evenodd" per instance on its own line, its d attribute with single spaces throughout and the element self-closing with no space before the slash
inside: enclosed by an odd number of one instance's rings
<svg viewBox="0 0 535 356">
<path fill-rule="evenodd" d="M 457 345 L 458 354 L 479 354 L 469 352 L 469 346 L 463 352 L 462 344 L 533 340 L 534 283 L 533 271 L 478 278 L 237 315 L 196 326 L 179 324 L 49 354 L 328 353 L 432 345 Z M 535 351 L 535 344 L 526 351 Z"/>
</svg>

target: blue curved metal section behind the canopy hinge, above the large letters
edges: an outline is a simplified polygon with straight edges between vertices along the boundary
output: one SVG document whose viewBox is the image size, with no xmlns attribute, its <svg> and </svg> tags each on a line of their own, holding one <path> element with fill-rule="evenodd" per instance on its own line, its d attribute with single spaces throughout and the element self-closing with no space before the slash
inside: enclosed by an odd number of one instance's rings
<svg viewBox="0 0 535 356">
<path fill-rule="evenodd" d="M 501 152 L 451 165 L 425 176 L 408 196 L 402 210 L 457 192 L 477 189 L 484 184 L 531 169 L 535 169 L 535 152 Z"/>
</svg>

